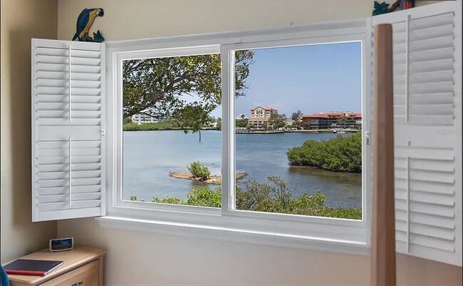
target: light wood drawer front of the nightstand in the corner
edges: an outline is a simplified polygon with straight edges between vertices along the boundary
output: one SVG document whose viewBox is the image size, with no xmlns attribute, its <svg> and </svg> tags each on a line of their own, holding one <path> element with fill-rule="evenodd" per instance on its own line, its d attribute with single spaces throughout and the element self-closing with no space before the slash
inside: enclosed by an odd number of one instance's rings
<svg viewBox="0 0 463 286">
<path fill-rule="evenodd" d="M 48 280 L 41 286 L 98 286 L 98 260 Z"/>
</svg>

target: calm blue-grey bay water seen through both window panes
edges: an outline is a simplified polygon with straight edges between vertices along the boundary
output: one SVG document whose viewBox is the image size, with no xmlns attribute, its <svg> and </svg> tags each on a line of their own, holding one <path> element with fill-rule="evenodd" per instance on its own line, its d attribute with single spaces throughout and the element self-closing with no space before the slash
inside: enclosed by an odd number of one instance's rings
<svg viewBox="0 0 463 286">
<path fill-rule="evenodd" d="M 220 131 L 184 134 L 182 131 L 125 131 L 123 155 L 123 198 L 138 200 L 153 196 L 185 199 L 191 188 L 205 185 L 169 176 L 170 171 L 188 172 L 187 165 L 199 160 L 218 175 L 221 165 Z M 243 180 L 265 181 L 269 175 L 288 180 L 295 195 L 326 195 L 333 207 L 360 208 L 359 174 L 334 173 L 288 165 L 286 151 L 308 139 L 323 140 L 333 133 L 236 134 L 236 172 L 249 175 Z M 214 185 L 209 185 L 214 188 Z"/>
</svg>

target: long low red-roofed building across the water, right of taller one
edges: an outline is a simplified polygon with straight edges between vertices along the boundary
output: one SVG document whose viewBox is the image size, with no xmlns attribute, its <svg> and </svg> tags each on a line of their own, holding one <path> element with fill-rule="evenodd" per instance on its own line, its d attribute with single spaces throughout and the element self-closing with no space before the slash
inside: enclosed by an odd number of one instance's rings
<svg viewBox="0 0 463 286">
<path fill-rule="evenodd" d="M 306 129 L 362 129 L 362 113 L 350 111 L 304 114 L 301 119 Z"/>
</svg>

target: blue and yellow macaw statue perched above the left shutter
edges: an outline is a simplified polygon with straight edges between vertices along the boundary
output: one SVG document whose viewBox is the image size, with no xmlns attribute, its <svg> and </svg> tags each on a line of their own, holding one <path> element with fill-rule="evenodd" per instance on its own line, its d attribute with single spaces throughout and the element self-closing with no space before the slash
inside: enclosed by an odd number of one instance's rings
<svg viewBox="0 0 463 286">
<path fill-rule="evenodd" d="M 102 8 L 83 9 L 77 19 L 76 34 L 73 36 L 73 41 L 104 41 L 105 39 L 99 30 L 93 33 L 94 38 L 88 36 L 93 21 L 95 21 L 96 17 L 103 17 L 104 14 L 105 11 Z"/>
</svg>

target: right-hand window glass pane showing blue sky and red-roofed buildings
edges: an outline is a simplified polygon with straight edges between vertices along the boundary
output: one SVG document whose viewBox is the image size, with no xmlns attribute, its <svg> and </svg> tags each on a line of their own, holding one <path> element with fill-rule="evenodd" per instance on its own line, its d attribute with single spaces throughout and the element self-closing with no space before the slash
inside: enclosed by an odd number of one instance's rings
<svg viewBox="0 0 463 286">
<path fill-rule="evenodd" d="M 360 42 L 249 51 L 235 100 L 237 210 L 362 218 L 361 51 Z"/>
</svg>

